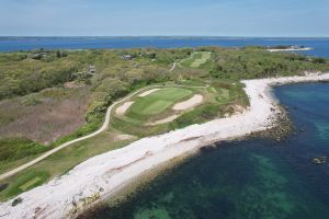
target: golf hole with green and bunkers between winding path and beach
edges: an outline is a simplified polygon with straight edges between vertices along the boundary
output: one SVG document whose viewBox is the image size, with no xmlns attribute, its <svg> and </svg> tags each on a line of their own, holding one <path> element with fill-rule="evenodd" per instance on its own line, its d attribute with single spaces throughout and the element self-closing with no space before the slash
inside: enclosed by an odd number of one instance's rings
<svg viewBox="0 0 329 219">
<path fill-rule="evenodd" d="M 220 105 L 234 102 L 237 95 L 237 91 L 208 84 L 168 83 L 134 92 L 118 102 L 120 104 L 114 104 L 105 131 L 98 131 L 100 134 L 97 136 L 73 142 L 9 177 L 8 187 L 0 193 L 0 199 L 26 192 L 56 175 L 65 174 L 88 157 L 124 147 L 145 136 L 202 123 L 207 119 L 204 116 L 212 113 L 213 116 L 220 117 Z M 197 96 L 202 99 L 195 99 Z"/>
</svg>

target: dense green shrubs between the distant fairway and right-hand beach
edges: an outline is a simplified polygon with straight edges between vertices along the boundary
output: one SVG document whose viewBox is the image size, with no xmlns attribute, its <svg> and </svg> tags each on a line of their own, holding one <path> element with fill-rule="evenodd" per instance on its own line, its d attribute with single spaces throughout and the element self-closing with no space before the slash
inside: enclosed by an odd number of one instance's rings
<svg viewBox="0 0 329 219">
<path fill-rule="evenodd" d="M 215 49 L 215 65 L 211 76 L 220 79 L 241 80 L 276 76 L 296 76 L 304 71 L 327 71 L 324 58 L 309 59 L 291 53 L 266 53 L 263 49 Z"/>
</svg>

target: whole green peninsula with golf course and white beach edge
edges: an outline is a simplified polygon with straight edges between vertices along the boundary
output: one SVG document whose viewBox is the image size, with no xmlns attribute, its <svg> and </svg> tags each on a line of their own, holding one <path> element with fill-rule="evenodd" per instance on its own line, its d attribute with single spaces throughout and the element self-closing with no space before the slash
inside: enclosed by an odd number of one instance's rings
<svg viewBox="0 0 329 219">
<path fill-rule="evenodd" d="M 77 217 L 160 165 L 275 127 L 272 87 L 329 80 L 326 59 L 258 47 L 35 50 L 0 61 L 4 218 Z"/>
</svg>

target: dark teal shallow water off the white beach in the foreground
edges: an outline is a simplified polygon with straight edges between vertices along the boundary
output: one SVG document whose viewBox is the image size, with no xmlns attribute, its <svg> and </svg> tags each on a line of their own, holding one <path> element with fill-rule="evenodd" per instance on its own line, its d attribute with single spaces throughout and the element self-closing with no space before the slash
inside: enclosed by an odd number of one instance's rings
<svg viewBox="0 0 329 219">
<path fill-rule="evenodd" d="M 159 176 L 116 208 L 88 218 L 329 218 L 329 84 L 275 89 L 296 135 L 281 142 L 257 139 L 203 150 Z"/>
</svg>

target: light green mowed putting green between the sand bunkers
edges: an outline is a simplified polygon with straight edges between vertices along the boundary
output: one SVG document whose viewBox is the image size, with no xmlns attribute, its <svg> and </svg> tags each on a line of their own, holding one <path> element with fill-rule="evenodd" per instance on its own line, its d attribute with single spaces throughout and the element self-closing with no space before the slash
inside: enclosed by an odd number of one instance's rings
<svg viewBox="0 0 329 219">
<path fill-rule="evenodd" d="M 156 115 L 168 110 L 177 101 L 191 96 L 193 92 L 181 88 L 166 88 L 145 97 L 138 97 L 131 107 L 131 114 L 127 116 L 140 115 Z M 134 117 L 133 116 L 133 117 Z"/>
</svg>

